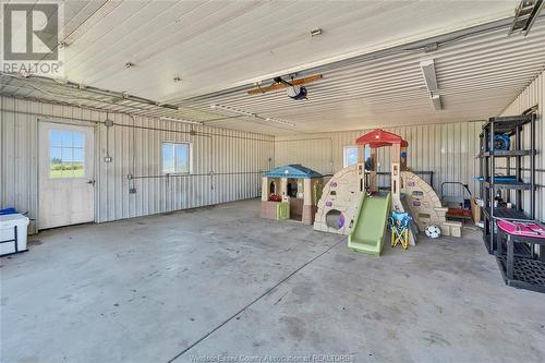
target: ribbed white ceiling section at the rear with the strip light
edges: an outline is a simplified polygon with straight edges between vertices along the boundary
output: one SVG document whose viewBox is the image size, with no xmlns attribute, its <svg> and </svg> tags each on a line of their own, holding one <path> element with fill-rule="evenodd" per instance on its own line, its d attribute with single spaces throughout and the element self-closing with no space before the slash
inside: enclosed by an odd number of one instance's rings
<svg viewBox="0 0 545 363">
<path fill-rule="evenodd" d="M 420 61 L 431 58 L 444 104 L 440 111 L 433 108 L 420 70 Z M 544 66 L 542 19 L 528 37 L 507 37 L 501 28 L 444 44 L 434 52 L 405 51 L 326 70 L 323 80 L 307 86 L 306 101 L 292 100 L 282 90 L 247 95 L 239 88 L 181 105 L 203 110 L 230 106 L 288 120 L 300 132 L 482 120 L 500 113 Z M 249 128 L 242 119 L 215 124 Z"/>
</svg>

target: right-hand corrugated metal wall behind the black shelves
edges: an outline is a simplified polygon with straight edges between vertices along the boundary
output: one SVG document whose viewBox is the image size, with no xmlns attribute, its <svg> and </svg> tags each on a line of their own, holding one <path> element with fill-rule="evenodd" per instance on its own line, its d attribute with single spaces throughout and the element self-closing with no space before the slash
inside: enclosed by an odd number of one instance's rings
<svg viewBox="0 0 545 363">
<path fill-rule="evenodd" d="M 535 123 L 535 144 L 537 149 L 537 156 L 535 158 L 535 167 L 537 169 L 535 173 L 535 182 L 540 185 L 545 185 L 545 125 L 543 124 L 543 108 L 545 107 L 545 72 L 537 76 L 520 95 L 517 97 L 511 105 L 509 105 L 504 111 L 504 116 L 519 114 L 524 110 L 538 106 L 537 110 L 537 122 Z M 524 131 L 529 129 L 525 126 Z M 522 147 L 530 148 L 530 133 L 523 133 Z M 530 159 L 528 157 L 523 158 L 523 167 L 530 167 Z M 523 178 L 529 177 L 529 171 L 525 170 L 522 174 Z M 536 192 L 536 217 L 541 220 L 545 220 L 545 191 L 544 186 L 537 187 Z M 525 205 L 528 205 L 528 193 L 524 192 L 526 196 Z"/>
</svg>

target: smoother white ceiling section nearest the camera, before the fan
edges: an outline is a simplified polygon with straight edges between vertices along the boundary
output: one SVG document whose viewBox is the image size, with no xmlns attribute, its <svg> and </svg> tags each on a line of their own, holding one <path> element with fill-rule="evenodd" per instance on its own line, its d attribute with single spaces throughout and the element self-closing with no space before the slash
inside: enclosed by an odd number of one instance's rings
<svg viewBox="0 0 545 363">
<path fill-rule="evenodd" d="M 65 1 L 66 77 L 161 101 L 186 98 L 504 19 L 518 2 Z M 310 35 L 315 27 L 319 37 Z"/>
</svg>

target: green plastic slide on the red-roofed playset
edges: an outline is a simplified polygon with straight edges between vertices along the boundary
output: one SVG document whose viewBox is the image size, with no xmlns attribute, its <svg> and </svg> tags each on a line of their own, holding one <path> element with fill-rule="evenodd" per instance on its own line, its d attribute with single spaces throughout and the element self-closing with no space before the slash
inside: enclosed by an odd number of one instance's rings
<svg viewBox="0 0 545 363">
<path fill-rule="evenodd" d="M 362 196 L 355 226 L 348 237 L 349 249 L 377 256 L 380 255 L 390 205 L 390 193 L 380 193 L 373 196 L 364 194 Z"/>
</svg>

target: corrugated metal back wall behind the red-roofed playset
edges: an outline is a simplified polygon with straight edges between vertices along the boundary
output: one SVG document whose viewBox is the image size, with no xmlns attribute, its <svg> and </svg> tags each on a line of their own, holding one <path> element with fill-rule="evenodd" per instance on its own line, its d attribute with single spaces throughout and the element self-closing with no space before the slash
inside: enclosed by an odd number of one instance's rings
<svg viewBox="0 0 545 363">
<path fill-rule="evenodd" d="M 479 174 L 479 133 L 483 122 L 459 122 L 428 125 L 386 128 L 409 142 L 408 166 L 415 171 L 433 171 L 433 186 L 440 193 L 444 181 L 468 183 L 473 193 L 479 192 L 479 183 L 473 180 Z M 355 145 L 355 140 L 371 130 L 350 132 L 307 134 L 296 137 L 275 140 L 275 165 L 300 162 L 323 173 L 334 173 L 342 169 L 344 146 Z M 378 150 L 379 171 L 389 172 L 390 149 Z M 428 180 L 425 178 L 425 180 Z M 389 183 L 379 178 L 379 185 Z M 461 187 L 446 186 L 447 195 L 460 195 Z"/>
</svg>

